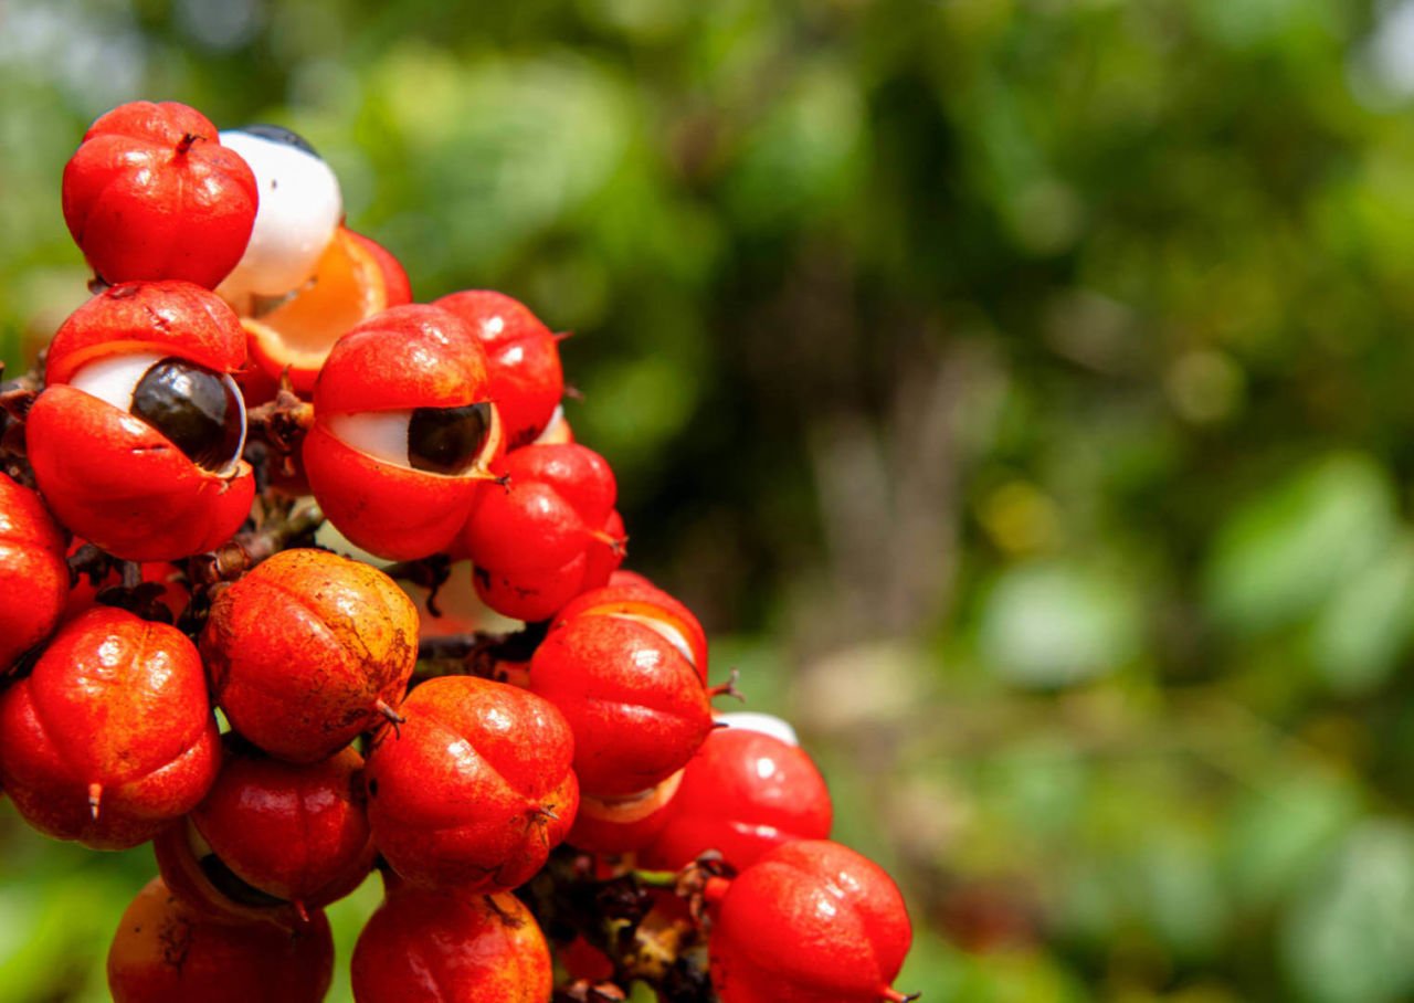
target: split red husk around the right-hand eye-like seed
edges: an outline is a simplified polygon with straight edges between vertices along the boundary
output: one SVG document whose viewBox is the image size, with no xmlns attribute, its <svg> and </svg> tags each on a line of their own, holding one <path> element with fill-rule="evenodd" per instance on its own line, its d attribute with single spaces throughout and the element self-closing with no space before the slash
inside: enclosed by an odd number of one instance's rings
<svg viewBox="0 0 1414 1003">
<path fill-rule="evenodd" d="M 491 477 L 486 467 L 501 448 L 495 406 L 481 456 L 455 475 L 370 456 L 341 437 L 339 422 L 486 400 L 485 354 L 450 313 L 410 304 L 355 327 L 324 362 L 314 386 L 314 429 L 304 440 L 304 472 L 324 515 L 379 557 L 413 560 L 444 550 Z"/>
</svg>

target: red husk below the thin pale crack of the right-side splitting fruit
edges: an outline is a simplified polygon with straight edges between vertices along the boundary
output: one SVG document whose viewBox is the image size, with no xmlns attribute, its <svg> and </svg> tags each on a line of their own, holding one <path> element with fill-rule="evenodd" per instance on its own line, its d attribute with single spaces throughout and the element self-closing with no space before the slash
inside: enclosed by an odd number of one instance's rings
<svg viewBox="0 0 1414 1003">
<path fill-rule="evenodd" d="M 574 771 L 595 796 L 667 779 L 711 730 L 697 669 L 662 634 L 631 620 L 556 622 L 530 659 L 530 689 L 570 721 Z"/>
</svg>

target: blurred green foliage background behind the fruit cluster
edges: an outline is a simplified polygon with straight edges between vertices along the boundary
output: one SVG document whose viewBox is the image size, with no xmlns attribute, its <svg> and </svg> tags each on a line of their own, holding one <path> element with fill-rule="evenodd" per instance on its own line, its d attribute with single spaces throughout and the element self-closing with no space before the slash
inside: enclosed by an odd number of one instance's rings
<svg viewBox="0 0 1414 1003">
<path fill-rule="evenodd" d="M 901 987 L 1414 999 L 1414 3 L 0 0 L 0 95 L 11 373 L 139 96 L 574 331 L 629 563 L 905 888 Z M 106 999 L 151 871 L 0 813 L 0 999 Z"/>
</svg>

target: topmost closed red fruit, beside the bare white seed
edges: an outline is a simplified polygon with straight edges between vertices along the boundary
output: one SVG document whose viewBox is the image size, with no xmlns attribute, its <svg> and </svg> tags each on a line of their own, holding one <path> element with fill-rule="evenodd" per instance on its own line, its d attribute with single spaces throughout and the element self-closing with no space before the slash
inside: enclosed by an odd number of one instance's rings
<svg viewBox="0 0 1414 1003">
<path fill-rule="evenodd" d="M 215 289 L 245 253 L 257 199 L 246 161 L 177 102 L 115 108 L 64 167 L 64 222 L 107 283 L 184 279 Z"/>
</svg>

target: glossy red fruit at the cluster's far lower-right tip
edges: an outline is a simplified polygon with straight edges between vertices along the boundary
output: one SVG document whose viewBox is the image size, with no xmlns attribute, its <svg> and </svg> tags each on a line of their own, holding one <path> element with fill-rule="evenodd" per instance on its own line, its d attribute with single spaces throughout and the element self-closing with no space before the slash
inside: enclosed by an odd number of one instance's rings
<svg viewBox="0 0 1414 1003">
<path fill-rule="evenodd" d="M 912 938 L 878 864 L 829 840 L 786 843 L 725 887 L 707 944 L 711 980 L 721 1003 L 898 1002 L 891 983 Z"/>
</svg>

